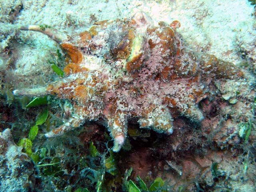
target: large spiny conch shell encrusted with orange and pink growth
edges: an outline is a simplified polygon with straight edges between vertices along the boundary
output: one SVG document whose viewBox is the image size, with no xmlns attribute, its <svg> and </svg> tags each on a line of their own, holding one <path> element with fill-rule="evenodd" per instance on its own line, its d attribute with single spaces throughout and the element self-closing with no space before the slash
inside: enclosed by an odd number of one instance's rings
<svg viewBox="0 0 256 192">
<path fill-rule="evenodd" d="M 68 38 L 52 28 L 22 26 L 42 32 L 60 43 L 68 54 L 66 76 L 46 88 L 15 90 L 16 95 L 56 95 L 71 100 L 74 113 L 68 122 L 46 133 L 64 134 L 87 120 L 104 122 L 118 152 L 130 120 L 140 128 L 172 134 L 172 116 L 192 121 L 204 119 L 198 103 L 213 94 L 209 79 L 239 78 L 243 73 L 212 55 L 200 59 L 184 46 L 172 24 L 159 22 L 143 12 L 132 19 L 96 22 Z"/>
</svg>

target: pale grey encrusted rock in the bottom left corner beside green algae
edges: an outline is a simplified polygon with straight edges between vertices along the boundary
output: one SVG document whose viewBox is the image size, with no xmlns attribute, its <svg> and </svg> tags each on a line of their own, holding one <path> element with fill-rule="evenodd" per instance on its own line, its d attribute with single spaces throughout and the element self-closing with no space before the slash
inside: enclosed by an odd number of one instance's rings
<svg viewBox="0 0 256 192">
<path fill-rule="evenodd" d="M 12 140 L 10 129 L 0 133 L 0 191 L 32 191 L 34 166 L 22 147 Z"/>
</svg>

